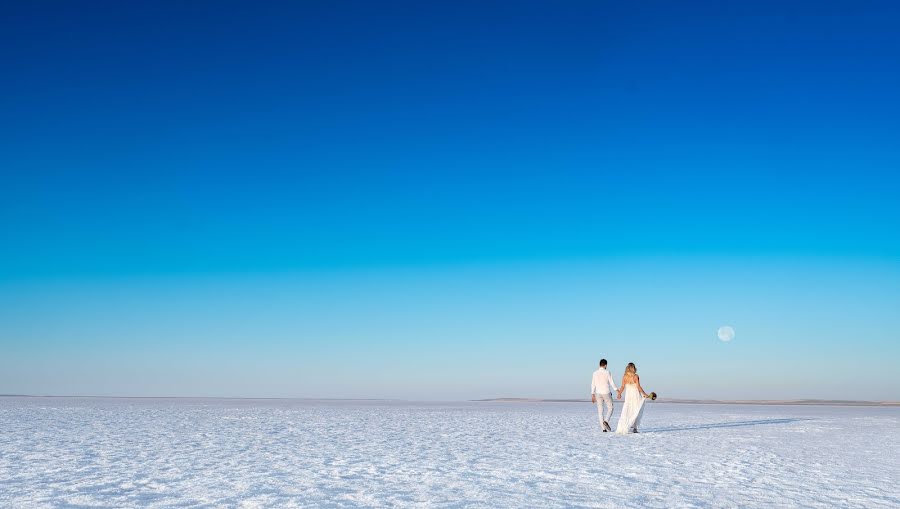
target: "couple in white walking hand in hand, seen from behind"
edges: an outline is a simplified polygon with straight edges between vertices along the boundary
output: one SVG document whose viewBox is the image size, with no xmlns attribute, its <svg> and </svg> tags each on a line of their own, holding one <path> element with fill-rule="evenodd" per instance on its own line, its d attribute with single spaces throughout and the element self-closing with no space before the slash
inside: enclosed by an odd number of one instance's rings
<svg viewBox="0 0 900 509">
<path fill-rule="evenodd" d="M 625 393 L 625 404 L 622 406 L 616 433 L 619 435 L 637 433 L 641 415 L 644 413 L 644 399 L 650 396 L 641 387 L 641 377 L 638 376 L 637 367 L 633 362 L 629 362 L 625 367 L 621 388 L 616 387 L 612 375 L 607 371 L 606 359 L 600 359 L 600 368 L 594 371 L 594 376 L 591 377 L 591 403 L 597 404 L 597 415 L 600 416 L 600 425 L 604 433 L 612 431 L 609 427 L 609 418 L 612 417 L 613 411 L 610 387 L 616 391 L 618 399 L 622 399 L 622 393 Z M 603 412 L 603 407 L 606 407 L 606 413 Z"/>
</svg>

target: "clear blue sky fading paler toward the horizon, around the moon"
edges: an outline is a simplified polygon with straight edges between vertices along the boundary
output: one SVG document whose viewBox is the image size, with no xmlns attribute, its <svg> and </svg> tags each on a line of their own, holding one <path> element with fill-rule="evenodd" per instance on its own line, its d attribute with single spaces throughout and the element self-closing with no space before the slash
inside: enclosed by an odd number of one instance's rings
<svg viewBox="0 0 900 509">
<path fill-rule="evenodd" d="M 900 399 L 900 5 L 728 4 L 4 3 L 0 393 Z"/>
</svg>

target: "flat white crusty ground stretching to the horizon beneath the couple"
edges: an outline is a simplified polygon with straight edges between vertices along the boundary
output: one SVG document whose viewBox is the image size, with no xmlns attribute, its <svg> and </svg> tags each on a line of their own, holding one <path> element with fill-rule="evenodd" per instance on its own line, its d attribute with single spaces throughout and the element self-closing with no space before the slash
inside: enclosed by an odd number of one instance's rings
<svg viewBox="0 0 900 509">
<path fill-rule="evenodd" d="M 0 507 L 900 507 L 898 408 L 648 405 L 0 398 Z"/>
</svg>

